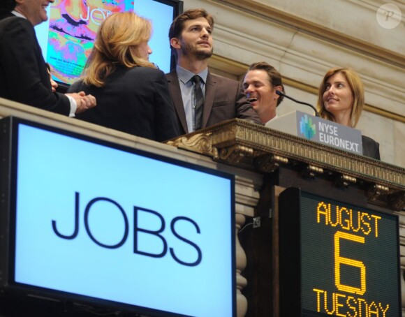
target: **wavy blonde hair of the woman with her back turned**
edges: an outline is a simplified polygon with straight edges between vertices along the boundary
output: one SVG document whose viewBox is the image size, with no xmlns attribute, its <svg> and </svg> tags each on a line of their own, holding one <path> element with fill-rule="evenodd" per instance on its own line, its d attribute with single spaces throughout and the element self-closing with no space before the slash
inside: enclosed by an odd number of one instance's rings
<svg viewBox="0 0 405 317">
<path fill-rule="evenodd" d="M 149 41 L 152 22 L 133 12 L 115 13 L 101 23 L 93 50 L 83 71 L 84 84 L 103 87 L 108 75 L 117 64 L 128 68 L 136 66 L 156 68 L 142 59 L 138 45 Z"/>
</svg>

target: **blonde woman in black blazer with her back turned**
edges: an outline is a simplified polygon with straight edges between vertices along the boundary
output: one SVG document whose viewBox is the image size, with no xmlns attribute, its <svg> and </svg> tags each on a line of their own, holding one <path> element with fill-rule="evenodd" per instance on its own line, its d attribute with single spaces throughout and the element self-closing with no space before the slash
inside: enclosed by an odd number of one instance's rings
<svg viewBox="0 0 405 317">
<path fill-rule="evenodd" d="M 135 13 L 103 21 L 84 75 L 68 89 L 87 91 L 99 101 L 95 111 L 78 119 L 156 141 L 179 135 L 168 82 L 149 62 L 151 35 L 151 22 Z"/>
</svg>

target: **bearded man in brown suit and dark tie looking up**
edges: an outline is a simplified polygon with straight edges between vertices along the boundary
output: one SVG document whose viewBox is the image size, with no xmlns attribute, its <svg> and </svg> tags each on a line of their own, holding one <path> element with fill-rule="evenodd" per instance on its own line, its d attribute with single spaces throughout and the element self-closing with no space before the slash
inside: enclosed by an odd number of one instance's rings
<svg viewBox="0 0 405 317">
<path fill-rule="evenodd" d="M 213 27 L 214 19 L 204 9 L 186 10 L 170 26 L 170 46 L 177 67 L 166 74 L 166 78 L 182 134 L 233 118 L 260 124 L 258 115 L 246 101 L 240 82 L 212 75 L 208 71 L 208 59 L 213 52 Z M 193 80 L 195 75 L 200 77 L 197 83 Z M 195 118 L 198 86 L 204 96 L 201 124 Z"/>
</svg>

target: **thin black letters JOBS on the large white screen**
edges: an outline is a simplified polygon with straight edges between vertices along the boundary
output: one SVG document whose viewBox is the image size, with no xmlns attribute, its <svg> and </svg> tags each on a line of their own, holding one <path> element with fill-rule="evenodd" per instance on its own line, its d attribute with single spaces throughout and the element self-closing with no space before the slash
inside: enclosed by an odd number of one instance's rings
<svg viewBox="0 0 405 317">
<path fill-rule="evenodd" d="M 89 221 L 89 214 L 90 213 L 96 213 L 98 209 L 98 204 L 100 202 L 106 202 L 110 204 L 111 210 L 116 210 L 116 212 L 119 212 L 119 214 L 122 216 L 122 219 L 124 220 L 124 232 L 122 233 L 121 240 L 115 244 L 105 244 L 103 242 L 100 242 L 95 236 L 94 233 L 91 232 L 91 227 L 90 227 L 90 221 Z M 138 223 L 138 219 L 140 216 L 148 215 L 149 217 L 156 217 L 156 220 L 159 221 L 160 223 L 160 228 L 158 230 L 148 230 L 147 228 L 141 228 L 140 224 Z M 94 218 L 91 218 L 94 219 Z M 186 237 L 183 237 L 180 235 L 177 230 L 176 230 L 176 224 L 181 223 L 181 222 L 186 222 L 190 226 L 192 226 L 195 230 L 196 233 L 200 234 L 200 227 L 198 226 L 198 223 L 196 221 L 193 221 L 193 219 L 190 219 L 189 217 L 186 216 L 176 216 L 175 218 L 171 219 L 170 221 L 170 229 L 166 228 L 166 222 L 168 219 L 165 219 L 159 212 L 156 212 L 151 209 L 145 209 L 142 207 L 138 206 L 133 206 L 133 253 L 139 254 L 141 256 L 149 256 L 152 258 L 163 258 L 166 253 L 170 253 L 170 256 L 179 264 L 181 265 L 186 265 L 186 266 L 196 266 L 200 264 L 202 260 L 202 251 L 200 247 L 192 242 L 190 239 L 187 239 Z M 91 199 L 89 202 L 87 202 L 86 207 L 84 208 L 84 216 L 83 216 L 83 222 L 84 222 L 84 229 L 86 230 L 87 235 L 90 237 L 90 239 L 97 244 L 98 246 L 101 246 L 105 249 L 118 249 L 119 247 L 123 246 L 126 241 L 128 240 L 128 234 L 129 234 L 129 226 L 130 223 L 128 221 L 128 216 L 124 210 L 124 208 L 119 205 L 118 202 L 115 200 L 112 200 L 110 198 L 105 198 L 105 197 L 97 197 Z M 75 193 L 75 213 L 74 213 L 74 223 L 75 223 L 75 228 L 73 230 L 73 233 L 71 235 L 65 235 L 64 233 L 60 233 L 59 230 L 57 229 L 57 221 L 52 220 L 52 229 L 54 233 L 60 237 L 61 239 L 75 239 L 78 236 L 79 230 L 80 230 L 80 193 Z M 169 231 L 169 233 L 168 233 Z M 152 236 L 156 238 L 158 241 L 161 243 L 161 252 L 156 253 L 148 250 L 140 250 L 139 244 L 140 244 L 140 235 L 139 233 L 143 233 L 144 237 L 145 235 Z M 165 236 L 167 235 L 174 235 L 177 239 L 180 241 L 184 242 L 185 244 L 189 244 L 189 246 L 193 247 L 193 249 L 196 250 L 197 257 L 194 258 L 193 260 L 191 259 L 184 259 L 184 258 L 179 258 L 176 255 L 176 251 L 174 247 L 169 247 L 168 242 L 165 239 Z"/>
</svg>

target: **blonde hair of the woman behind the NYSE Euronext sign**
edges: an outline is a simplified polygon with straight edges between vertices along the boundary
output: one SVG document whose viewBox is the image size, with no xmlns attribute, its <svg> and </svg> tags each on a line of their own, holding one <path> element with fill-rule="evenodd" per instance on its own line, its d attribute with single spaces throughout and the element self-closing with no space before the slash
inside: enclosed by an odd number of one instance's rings
<svg viewBox="0 0 405 317">
<path fill-rule="evenodd" d="M 343 68 L 343 67 L 334 67 L 331 68 L 329 71 L 326 72 L 321 85 L 319 86 L 318 92 L 318 104 L 316 108 L 319 112 L 319 116 L 323 119 L 327 119 L 330 121 L 334 121 L 334 117 L 332 113 L 325 109 L 325 105 L 323 103 L 323 93 L 326 90 L 326 82 L 330 78 L 330 76 L 342 73 L 346 78 L 351 92 L 353 94 L 353 107 L 351 110 L 351 127 L 354 128 L 360 119 L 360 115 L 364 108 L 364 87 L 362 84 L 362 80 L 360 79 L 359 75 L 353 71 L 351 68 Z"/>
</svg>

